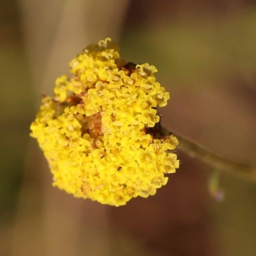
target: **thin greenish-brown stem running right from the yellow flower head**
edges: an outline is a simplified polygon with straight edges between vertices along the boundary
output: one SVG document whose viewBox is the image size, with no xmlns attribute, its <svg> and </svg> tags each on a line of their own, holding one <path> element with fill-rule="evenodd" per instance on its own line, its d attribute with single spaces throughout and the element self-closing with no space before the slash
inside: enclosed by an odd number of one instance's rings
<svg viewBox="0 0 256 256">
<path fill-rule="evenodd" d="M 168 134 L 170 131 L 162 127 L 162 133 Z M 204 147 L 197 145 L 189 140 L 186 140 L 182 136 L 174 134 L 174 136 L 179 140 L 178 150 L 182 150 L 184 153 L 188 154 L 190 157 L 196 158 L 213 168 L 218 168 L 223 172 L 236 175 L 246 180 L 256 182 L 256 167 L 244 163 L 236 163 L 230 159 L 219 156 L 214 152 L 211 152 Z"/>
</svg>

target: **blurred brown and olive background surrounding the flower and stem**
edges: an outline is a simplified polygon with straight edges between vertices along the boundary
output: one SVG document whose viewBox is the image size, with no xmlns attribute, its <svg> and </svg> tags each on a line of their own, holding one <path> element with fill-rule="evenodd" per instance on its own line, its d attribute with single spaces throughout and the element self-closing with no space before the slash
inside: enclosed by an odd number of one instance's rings
<svg viewBox="0 0 256 256">
<path fill-rule="evenodd" d="M 0 8 L 0 255 L 256 255 L 256 185 L 178 152 L 156 196 L 123 207 L 52 188 L 29 125 L 40 95 L 88 44 L 110 36 L 127 61 L 150 63 L 171 99 L 163 124 L 256 164 L 256 3 L 246 0 L 10 0 Z"/>
</svg>

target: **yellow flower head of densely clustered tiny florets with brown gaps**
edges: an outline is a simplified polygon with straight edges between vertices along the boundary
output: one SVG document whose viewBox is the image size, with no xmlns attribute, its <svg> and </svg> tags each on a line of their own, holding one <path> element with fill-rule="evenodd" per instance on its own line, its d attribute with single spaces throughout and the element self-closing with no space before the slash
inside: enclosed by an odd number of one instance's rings
<svg viewBox="0 0 256 256">
<path fill-rule="evenodd" d="M 72 77 L 56 80 L 53 97 L 42 95 L 31 124 L 54 186 L 115 206 L 155 195 L 179 168 L 177 139 L 161 136 L 156 107 L 169 93 L 156 67 L 125 64 L 118 51 L 109 38 L 84 49 L 70 62 Z"/>
</svg>

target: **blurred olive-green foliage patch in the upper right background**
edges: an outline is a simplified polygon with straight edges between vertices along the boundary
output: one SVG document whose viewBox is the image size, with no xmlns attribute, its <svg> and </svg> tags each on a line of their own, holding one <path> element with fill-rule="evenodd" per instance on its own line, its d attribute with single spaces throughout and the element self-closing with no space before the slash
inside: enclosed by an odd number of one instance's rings
<svg viewBox="0 0 256 256">
<path fill-rule="evenodd" d="M 256 9 L 214 17 L 188 15 L 132 27 L 122 37 L 124 58 L 150 61 L 174 90 L 225 86 L 237 78 L 252 85 L 256 70 Z M 128 49 L 128 51 L 126 50 Z"/>
</svg>

